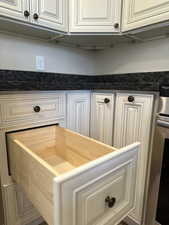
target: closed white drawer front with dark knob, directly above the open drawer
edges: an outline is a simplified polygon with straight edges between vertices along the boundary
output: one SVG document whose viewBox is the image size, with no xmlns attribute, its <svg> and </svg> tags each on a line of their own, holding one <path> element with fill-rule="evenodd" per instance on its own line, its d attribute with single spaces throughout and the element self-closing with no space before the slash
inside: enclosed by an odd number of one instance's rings
<svg viewBox="0 0 169 225">
<path fill-rule="evenodd" d="M 1 104 L 2 123 L 25 123 L 28 120 L 42 121 L 64 117 L 65 95 L 40 94 L 12 97 Z M 26 121 L 25 121 L 26 120 Z"/>
</svg>

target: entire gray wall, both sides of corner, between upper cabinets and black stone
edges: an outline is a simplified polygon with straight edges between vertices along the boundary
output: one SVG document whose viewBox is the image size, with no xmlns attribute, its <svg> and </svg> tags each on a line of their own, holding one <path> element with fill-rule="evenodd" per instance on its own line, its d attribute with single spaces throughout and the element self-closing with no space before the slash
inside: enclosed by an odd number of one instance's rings
<svg viewBox="0 0 169 225">
<path fill-rule="evenodd" d="M 169 70 L 169 39 L 94 52 L 0 34 L 0 69 L 36 71 L 36 55 L 45 56 L 47 72 L 100 75 L 165 71 Z"/>
</svg>

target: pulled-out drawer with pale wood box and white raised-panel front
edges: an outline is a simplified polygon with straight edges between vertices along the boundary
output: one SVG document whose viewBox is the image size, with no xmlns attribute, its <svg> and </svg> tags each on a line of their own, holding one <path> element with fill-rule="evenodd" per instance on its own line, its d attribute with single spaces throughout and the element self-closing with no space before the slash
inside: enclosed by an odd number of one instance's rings
<svg viewBox="0 0 169 225">
<path fill-rule="evenodd" d="M 14 181 L 49 225 L 113 225 L 132 210 L 139 143 L 115 149 L 59 126 L 7 142 Z"/>
</svg>

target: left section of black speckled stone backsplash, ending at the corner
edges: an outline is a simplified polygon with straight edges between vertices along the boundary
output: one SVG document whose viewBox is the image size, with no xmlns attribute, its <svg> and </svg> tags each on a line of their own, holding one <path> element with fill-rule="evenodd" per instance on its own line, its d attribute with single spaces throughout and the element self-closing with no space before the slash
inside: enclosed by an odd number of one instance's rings
<svg viewBox="0 0 169 225">
<path fill-rule="evenodd" d="M 90 80 L 89 76 L 0 70 L 1 91 L 91 89 Z"/>
</svg>

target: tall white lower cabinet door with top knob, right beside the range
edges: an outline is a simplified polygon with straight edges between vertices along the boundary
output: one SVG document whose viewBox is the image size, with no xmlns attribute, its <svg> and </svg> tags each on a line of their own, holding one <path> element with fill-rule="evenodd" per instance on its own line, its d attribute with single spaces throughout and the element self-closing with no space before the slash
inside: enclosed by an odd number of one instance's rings
<svg viewBox="0 0 169 225">
<path fill-rule="evenodd" d="M 149 151 L 153 95 L 117 94 L 115 105 L 114 146 L 141 142 L 137 171 L 135 207 L 131 218 L 142 224 L 146 167 Z"/>
</svg>

